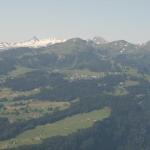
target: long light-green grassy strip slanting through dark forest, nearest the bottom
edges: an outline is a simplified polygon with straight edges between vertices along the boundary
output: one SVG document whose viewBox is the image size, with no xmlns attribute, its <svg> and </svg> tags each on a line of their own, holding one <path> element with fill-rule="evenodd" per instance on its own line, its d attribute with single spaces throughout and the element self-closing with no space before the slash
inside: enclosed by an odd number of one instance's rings
<svg viewBox="0 0 150 150">
<path fill-rule="evenodd" d="M 37 126 L 35 129 L 25 131 L 16 138 L 0 142 L 0 149 L 13 148 L 22 145 L 41 143 L 42 140 L 53 136 L 66 136 L 79 129 L 91 127 L 95 122 L 109 117 L 111 109 L 105 107 L 88 113 L 81 113 L 55 123 Z"/>
</svg>

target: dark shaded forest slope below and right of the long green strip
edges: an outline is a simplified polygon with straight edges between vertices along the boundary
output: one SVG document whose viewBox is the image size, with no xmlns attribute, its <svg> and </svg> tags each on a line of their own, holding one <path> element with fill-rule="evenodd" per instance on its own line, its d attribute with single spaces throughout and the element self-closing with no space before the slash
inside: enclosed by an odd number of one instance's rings
<svg viewBox="0 0 150 150">
<path fill-rule="evenodd" d="M 111 117 L 90 129 L 15 150 L 149 150 L 150 113 L 145 113 L 145 104 L 132 99 L 124 97 L 110 101 Z M 148 102 L 146 97 L 143 100 L 143 103 Z"/>
</svg>

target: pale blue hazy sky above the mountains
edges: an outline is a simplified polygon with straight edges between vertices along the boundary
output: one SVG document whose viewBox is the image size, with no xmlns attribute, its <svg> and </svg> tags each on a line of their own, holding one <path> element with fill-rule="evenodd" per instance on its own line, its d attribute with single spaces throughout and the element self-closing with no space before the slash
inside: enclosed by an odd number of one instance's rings
<svg viewBox="0 0 150 150">
<path fill-rule="evenodd" d="M 56 37 L 150 40 L 150 0 L 0 0 L 0 42 Z"/>
</svg>

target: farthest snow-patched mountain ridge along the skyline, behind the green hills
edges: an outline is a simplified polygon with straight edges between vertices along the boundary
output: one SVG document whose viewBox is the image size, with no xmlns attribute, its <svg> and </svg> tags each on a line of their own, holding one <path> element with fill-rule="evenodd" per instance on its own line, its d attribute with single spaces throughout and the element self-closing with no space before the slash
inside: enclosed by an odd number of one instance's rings
<svg viewBox="0 0 150 150">
<path fill-rule="evenodd" d="M 47 38 L 47 39 L 39 39 L 36 36 L 31 38 L 30 40 L 24 41 L 24 42 L 0 42 L 0 51 L 3 50 L 8 50 L 8 49 L 13 49 L 13 48 L 21 48 L 21 47 L 26 47 L 26 48 L 40 48 L 40 47 L 47 47 L 53 44 L 57 43 L 63 43 L 69 40 L 74 40 L 76 39 L 81 39 L 81 38 L 72 38 L 72 39 L 56 39 L 55 37 L 52 38 Z M 81 39 L 83 40 L 83 39 Z M 129 43 L 125 40 L 117 40 L 117 41 L 107 41 L 106 39 L 100 37 L 100 36 L 95 36 L 92 39 L 88 40 L 83 40 L 85 42 L 92 42 L 96 45 L 100 45 L 102 47 L 117 47 L 120 48 L 120 52 L 123 53 L 126 51 L 127 47 L 135 47 L 136 49 L 139 47 L 144 47 L 145 49 L 149 49 L 150 47 L 150 41 L 143 43 L 142 45 L 140 44 L 132 44 Z"/>
</svg>

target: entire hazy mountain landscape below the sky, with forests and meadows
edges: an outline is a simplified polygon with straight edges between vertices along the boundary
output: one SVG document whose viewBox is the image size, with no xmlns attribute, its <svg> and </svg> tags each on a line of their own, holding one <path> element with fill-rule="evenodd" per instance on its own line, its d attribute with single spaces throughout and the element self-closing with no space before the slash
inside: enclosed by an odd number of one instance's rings
<svg viewBox="0 0 150 150">
<path fill-rule="evenodd" d="M 39 41 L 0 52 L 0 150 L 150 149 L 150 42 Z"/>
</svg>

